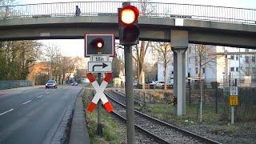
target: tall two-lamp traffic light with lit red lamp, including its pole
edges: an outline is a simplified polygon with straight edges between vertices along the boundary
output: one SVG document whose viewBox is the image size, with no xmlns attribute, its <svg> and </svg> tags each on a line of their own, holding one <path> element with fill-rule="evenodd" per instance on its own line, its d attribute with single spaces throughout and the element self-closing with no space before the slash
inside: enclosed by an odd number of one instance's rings
<svg viewBox="0 0 256 144">
<path fill-rule="evenodd" d="M 134 86 L 132 70 L 132 45 L 138 44 L 138 9 L 123 2 L 118 9 L 118 31 L 120 44 L 124 46 L 126 75 L 126 127 L 127 143 L 134 144 Z"/>
</svg>

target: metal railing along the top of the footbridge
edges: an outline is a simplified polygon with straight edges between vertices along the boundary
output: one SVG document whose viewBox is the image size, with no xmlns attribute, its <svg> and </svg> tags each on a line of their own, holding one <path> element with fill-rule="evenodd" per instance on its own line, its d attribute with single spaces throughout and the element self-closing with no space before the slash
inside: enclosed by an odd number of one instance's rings
<svg viewBox="0 0 256 144">
<path fill-rule="evenodd" d="M 190 18 L 205 21 L 256 24 L 256 10 L 224 6 L 202 6 L 160 2 L 131 2 L 140 16 L 153 18 Z M 0 6 L 0 18 L 70 17 L 79 6 L 81 16 L 116 15 L 122 2 L 56 2 Z"/>
</svg>

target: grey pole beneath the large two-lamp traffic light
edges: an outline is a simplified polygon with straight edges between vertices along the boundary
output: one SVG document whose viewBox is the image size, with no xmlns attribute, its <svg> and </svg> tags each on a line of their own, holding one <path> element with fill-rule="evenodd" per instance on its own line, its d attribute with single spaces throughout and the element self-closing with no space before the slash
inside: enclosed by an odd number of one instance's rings
<svg viewBox="0 0 256 144">
<path fill-rule="evenodd" d="M 130 45 L 124 46 L 125 74 L 126 74 L 126 126 L 127 143 L 134 144 L 134 85 L 133 85 L 133 64 L 132 48 Z"/>
</svg>

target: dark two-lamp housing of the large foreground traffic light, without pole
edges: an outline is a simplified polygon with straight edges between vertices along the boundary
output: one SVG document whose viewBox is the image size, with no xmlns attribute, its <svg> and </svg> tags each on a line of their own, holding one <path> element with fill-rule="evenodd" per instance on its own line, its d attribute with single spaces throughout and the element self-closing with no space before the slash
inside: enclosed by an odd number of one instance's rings
<svg viewBox="0 0 256 144">
<path fill-rule="evenodd" d="M 124 6 L 118 9 L 118 30 L 121 45 L 138 44 L 138 8 Z"/>
</svg>

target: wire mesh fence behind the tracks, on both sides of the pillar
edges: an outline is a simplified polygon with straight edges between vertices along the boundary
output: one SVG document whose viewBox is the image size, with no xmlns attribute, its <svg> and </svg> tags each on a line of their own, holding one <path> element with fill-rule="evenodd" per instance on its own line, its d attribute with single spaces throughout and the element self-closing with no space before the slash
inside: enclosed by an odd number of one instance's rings
<svg viewBox="0 0 256 144">
<path fill-rule="evenodd" d="M 212 121 L 230 122 L 230 86 L 238 86 L 238 105 L 234 106 L 236 122 L 250 122 L 256 120 L 256 86 L 254 78 L 250 81 L 238 78 L 230 79 L 207 79 L 202 81 L 202 112 L 204 117 Z M 124 88 L 118 91 L 125 93 Z M 193 80 L 186 82 L 186 113 L 194 118 L 199 117 L 200 81 Z M 160 117 L 168 121 L 170 115 L 174 114 L 177 98 L 174 90 L 168 89 L 134 89 L 134 104 L 138 110 Z M 176 102 L 175 102 L 176 101 Z"/>
</svg>

